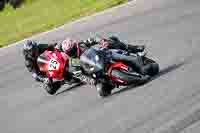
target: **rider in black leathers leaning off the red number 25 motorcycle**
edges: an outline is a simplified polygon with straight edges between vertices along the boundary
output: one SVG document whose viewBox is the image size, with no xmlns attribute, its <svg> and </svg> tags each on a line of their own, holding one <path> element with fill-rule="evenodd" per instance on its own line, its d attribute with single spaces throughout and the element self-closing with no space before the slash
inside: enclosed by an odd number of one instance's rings
<svg viewBox="0 0 200 133">
<path fill-rule="evenodd" d="M 36 43 L 35 41 L 28 40 L 23 46 L 23 55 L 25 59 L 25 66 L 28 69 L 29 72 L 32 73 L 32 77 L 38 81 L 44 83 L 44 88 L 54 88 L 52 91 L 52 94 L 59 89 L 59 87 L 63 84 L 62 81 L 56 81 L 53 82 L 50 78 L 46 77 L 46 74 L 41 72 L 38 64 L 37 64 L 37 59 L 38 57 L 45 51 L 53 51 L 55 50 L 55 46 L 57 43 L 54 44 L 39 44 Z M 67 65 L 66 65 L 67 66 Z M 71 74 L 68 73 L 67 71 L 64 73 L 67 76 L 64 76 L 65 81 L 70 82 Z"/>
</svg>

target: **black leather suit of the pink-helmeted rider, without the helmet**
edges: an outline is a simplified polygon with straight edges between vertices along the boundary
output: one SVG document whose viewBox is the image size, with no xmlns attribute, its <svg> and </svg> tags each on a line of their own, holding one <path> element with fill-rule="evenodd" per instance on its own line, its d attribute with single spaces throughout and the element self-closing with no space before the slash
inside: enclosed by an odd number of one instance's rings
<svg viewBox="0 0 200 133">
<path fill-rule="evenodd" d="M 105 39 L 105 41 L 108 43 L 107 45 L 107 49 L 118 49 L 118 50 L 125 50 L 131 53 L 137 53 L 137 52 L 143 52 L 144 51 L 144 45 L 130 45 L 130 44 L 125 44 L 123 42 L 121 42 L 118 38 L 116 37 L 110 37 L 108 39 Z M 72 58 L 79 58 L 80 55 L 87 49 L 89 49 L 90 47 L 97 45 L 98 47 L 101 47 L 101 40 L 100 41 L 96 41 L 94 39 L 94 41 L 92 42 L 88 42 L 88 41 L 80 41 L 77 44 L 77 47 L 74 47 L 73 49 L 71 49 L 70 51 L 68 51 L 68 55 Z M 56 48 L 59 51 L 63 51 L 62 50 L 62 44 L 58 44 L 56 46 Z M 80 49 L 80 54 L 77 54 L 78 50 L 77 48 Z M 132 63 L 132 65 L 136 68 L 136 70 L 141 73 L 141 74 L 146 74 L 148 67 L 147 66 L 143 66 L 143 64 L 140 63 L 140 59 L 139 57 L 133 57 L 133 56 L 127 56 L 127 55 L 121 55 L 121 54 L 117 54 L 116 52 L 114 52 L 114 56 L 115 59 L 123 59 L 125 61 L 128 61 L 130 63 Z"/>
</svg>

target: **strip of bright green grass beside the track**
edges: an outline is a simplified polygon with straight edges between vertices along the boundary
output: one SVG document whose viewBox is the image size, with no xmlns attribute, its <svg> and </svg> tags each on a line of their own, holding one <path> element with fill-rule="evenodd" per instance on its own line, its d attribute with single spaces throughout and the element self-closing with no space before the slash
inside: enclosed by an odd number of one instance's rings
<svg viewBox="0 0 200 133">
<path fill-rule="evenodd" d="M 26 0 L 0 12 L 0 47 L 128 0 Z"/>
</svg>

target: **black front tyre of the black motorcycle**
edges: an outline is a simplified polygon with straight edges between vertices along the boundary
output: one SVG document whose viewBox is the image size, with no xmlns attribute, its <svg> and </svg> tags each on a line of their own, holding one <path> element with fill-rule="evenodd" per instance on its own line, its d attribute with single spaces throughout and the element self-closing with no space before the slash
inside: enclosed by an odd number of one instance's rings
<svg viewBox="0 0 200 133">
<path fill-rule="evenodd" d="M 112 89 L 114 86 L 108 85 L 108 84 L 103 84 L 103 83 L 98 83 L 96 85 L 97 92 L 100 97 L 106 97 L 109 96 L 112 92 Z"/>
</svg>

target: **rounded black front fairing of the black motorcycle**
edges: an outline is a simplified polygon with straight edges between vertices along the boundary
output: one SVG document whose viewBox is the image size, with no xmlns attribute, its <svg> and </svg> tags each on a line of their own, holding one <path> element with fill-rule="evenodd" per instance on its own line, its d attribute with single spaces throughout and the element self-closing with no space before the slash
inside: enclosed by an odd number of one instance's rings
<svg viewBox="0 0 200 133">
<path fill-rule="evenodd" d="M 81 66 L 86 74 L 103 72 L 105 65 L 105 51 L 90 48 L 80 57 Z"/>
</svg>

